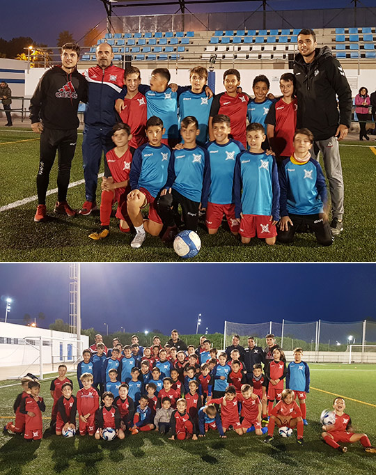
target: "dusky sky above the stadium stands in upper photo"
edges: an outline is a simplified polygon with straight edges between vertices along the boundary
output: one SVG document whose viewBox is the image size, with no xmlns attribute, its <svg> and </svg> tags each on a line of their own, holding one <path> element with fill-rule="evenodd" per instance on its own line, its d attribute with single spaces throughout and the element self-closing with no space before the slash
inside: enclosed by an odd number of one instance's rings
<svg viewBox="0 0 376 475">
<path fill-rule="evenodd" d="M 161 2 L 155 2 L 160 4 Z M 269 0 L 269 5 L 275 10 L 302 10 L 311 8 L 311 4 L 295 0 Z M 229 6 L 230 5 L 230 6 Z M 210 11 L 253 11 L 260 6 L 260 2 L 219 3 L 211 5 L 189 5 L 192 13 Z M 332 0 L 328 5 L 326 0 L 316 0 L 314 8 L 343 8 L 351 7 L 350 0 Z M 375 6 L 374 0 L 362 0 L 359 6 Z M 114 8 L 114 14 L 150 15 L 150 13 L 175 13 L 177 6 L 160 6 L 159 8 Z M 0 36 L 10 40 L 16 36 L 30 36 L 36 42 L 56 45 L 58 33 L 68 30 L 73 33 L 75 40 L 79 40 L 85 33 L 106 17 L 103 3 L 100 0 L 30 0 L 8 1 L 1 9 Z M 104 24 L 102 24 L 104 26 Z"/>
</svg>

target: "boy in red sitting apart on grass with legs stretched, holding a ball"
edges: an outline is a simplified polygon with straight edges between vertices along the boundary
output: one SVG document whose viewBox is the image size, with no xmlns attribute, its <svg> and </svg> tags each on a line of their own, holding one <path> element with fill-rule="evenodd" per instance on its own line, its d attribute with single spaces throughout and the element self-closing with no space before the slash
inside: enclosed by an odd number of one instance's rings
<svg viewBox="0 0 376 475">
<path fill-rule="evenodd" d="M 338 442 L 360 442 L 366 452 L 376 453 L 376 447 L 370 444 L 366 434 L 357 434 L 352 430 L 351 417 L 343 412 L 345 410 L 345 399 L 335 398 L 333 402 L 334 412 L 336 414 L 336 421 L 331 426 L 322 426 L 322 437 L 324 442 L 338 449 L 340 452 L 347 452 L 347 447 L 340 446 Z"/>
</svg>

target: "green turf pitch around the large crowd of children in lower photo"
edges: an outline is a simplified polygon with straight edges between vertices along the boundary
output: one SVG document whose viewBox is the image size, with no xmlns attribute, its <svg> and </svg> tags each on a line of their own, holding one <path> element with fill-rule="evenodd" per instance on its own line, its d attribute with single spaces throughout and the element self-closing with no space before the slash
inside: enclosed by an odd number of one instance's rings
<svg viewBox="0 0 376 475">
<path fill-rule="evenodd" d="M 265 436 L 254 433 L 239 437 L 230 431 L 227 439 L 210 432 L 198 441 L 175 442 L 157 433 L 127 436 L 113 442 L 95 441 L 92 437 L 49 436 L 42 441 L 27 443 L 21 436 L 0 435 L 0 472 L 13 474 L 258 474 L 258 475 L 361 475 L 375 474 L 376 455 L 365 453 L 361 445 L 348 444 L 340 454 L 320 440 L 320 413 L 331 407 L 334 393 L 346 399 L 347 414 L 354 430 L 367 433 L 376 444 L 375 371 L 372 364 L 357 366 L 311 364 L 311 392 L 307 399 L 308 426 L 304 441 L 296 444 L 276 435 L 272 445 L 263 444 Z M 71 375 L 78 389 L 75 375 Z M 1 423 L 13 419 L 13 401 L 20 385 L 4 387 L 12 382 L 0 382 Z M 45 416 L 51 414 L 50 380 L 42 382 Z M 320 390 L 320 391 L 319 391 Z M 350 399 L 352 398 L 352 400 Z M 49 419 L 44 420 L 45 428 Z"/>
</svg>

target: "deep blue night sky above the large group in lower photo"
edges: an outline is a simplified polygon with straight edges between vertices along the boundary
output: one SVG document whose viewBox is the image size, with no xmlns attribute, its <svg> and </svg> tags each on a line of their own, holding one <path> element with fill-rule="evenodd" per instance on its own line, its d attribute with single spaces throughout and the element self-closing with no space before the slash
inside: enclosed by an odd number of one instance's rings
<svg viewBox="0 0 376 475">
<path fill-rule="evenodd" d="M 43 326 L 68 322 L 68 264 L 3 263 L 0 283 L 1 321 L 9 296 L 10 321 L 44 312 Z M 82 326 L 191 334 L 198 313 L 210 333 L 224 320 L 352 322 L 376 318 L 375 288 L 375 264 L 81 264 Z"/>
</svg>

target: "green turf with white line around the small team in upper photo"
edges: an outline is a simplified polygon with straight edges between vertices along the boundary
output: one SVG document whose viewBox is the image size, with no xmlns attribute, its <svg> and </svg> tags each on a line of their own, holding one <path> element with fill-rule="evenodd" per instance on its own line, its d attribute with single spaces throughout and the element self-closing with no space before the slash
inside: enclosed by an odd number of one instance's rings
<svg viewBox="0 0 376 475">
<path fill-rule="evenodd" d="M 68 201 L 79 209 L 84 202 L 79 134 L 72 164 Z M 6 261 L 180 261 L 172 246 L 148 236 L 141 249 L 132 249 L 133 235 L 124 235 L 111 218 L 107 239 L 93 242 L 88 235 L 100 226 L 99 211 L 88 217 L 55 217 L 56 192 L 47 197 L 48 223 L 35 223 L 36 172 L 39 139 L 29 130 L 0 129 L 0 259 Z M 203 224 L 198 230 L 202 249 L 192 261 L 370 261 L 375 260 L 374 226 L 376 149 L 357 142 L 340 146 L 345 180 L 345 229 L 331 247 L 320 247 L 313 234 L 296 235 L 291 245 L 267 246 L 257 238 L 242 245 L 228 229 L 209 236 Z M 50 189 L 56 188 L 54 164 Z M 81 182 L 82 181 L 82 182 Z M 99 194 L 98 194 L 99 201 Z M 20 202 L 20 203 L 16 203 Z M 16 204 L 15 204 L 16 203 Z"/>
</svg>

